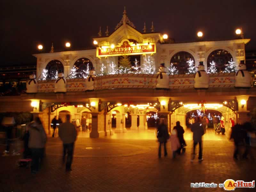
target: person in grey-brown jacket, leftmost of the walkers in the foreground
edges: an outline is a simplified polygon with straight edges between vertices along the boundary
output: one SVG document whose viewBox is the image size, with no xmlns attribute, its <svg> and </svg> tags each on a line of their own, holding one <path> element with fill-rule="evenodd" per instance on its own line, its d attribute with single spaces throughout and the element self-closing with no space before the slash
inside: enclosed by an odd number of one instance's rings
<svg viewBox="0 0 256 192">
<path fill-rule="evenodd" d="M 46 133 L 39 117 L 35 118 L 28 125 L 29 141 L 28 147 L 32 155 L 31 173 L 36 173 L 39 170 L 40 163 L 44 156 L 44 147 L 46 143 Z"/>
</svg>

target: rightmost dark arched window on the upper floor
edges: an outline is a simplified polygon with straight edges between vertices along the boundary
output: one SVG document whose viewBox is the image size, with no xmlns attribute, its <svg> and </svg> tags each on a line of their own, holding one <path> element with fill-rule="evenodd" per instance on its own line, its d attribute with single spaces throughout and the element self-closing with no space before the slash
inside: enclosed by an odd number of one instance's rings
<svg viewBox="0 0 256 192">
<path fill-rule="evenodd" d="M 210 67 L 216 68 L 216 73 L 221 73 L 225 71 L 225 68 L 230 62 L 234 62 L 232 55 L 224 50 L 224 49 L 217 49 L 210 53 L 207 58 L 207 68 Z"/>
</svg>

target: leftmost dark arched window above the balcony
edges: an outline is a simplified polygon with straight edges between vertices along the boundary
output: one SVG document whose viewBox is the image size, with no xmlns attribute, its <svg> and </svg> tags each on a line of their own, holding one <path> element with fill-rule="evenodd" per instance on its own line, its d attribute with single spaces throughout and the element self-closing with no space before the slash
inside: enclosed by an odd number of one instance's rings
<svg viewBox="0 0 256 192">
<path fill-rule="evenodd" d="M 46 68 L 48 70 L 46 79 L 54 79 L 56 77 L 56 73 L 64 72 L 63 64 L 59 60 L 51 60 Z"/>
</svg>

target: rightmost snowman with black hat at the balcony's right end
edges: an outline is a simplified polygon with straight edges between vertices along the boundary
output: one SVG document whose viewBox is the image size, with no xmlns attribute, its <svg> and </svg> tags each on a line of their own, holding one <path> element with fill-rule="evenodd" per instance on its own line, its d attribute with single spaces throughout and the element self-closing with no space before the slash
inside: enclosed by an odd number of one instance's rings
<svg viewBox="0 0 256 192">
<path fill-rule="evenodd" d="M 240 64 L 237 66 L 238 71 L 235 76 L 235 87 L 251 87 L 251 75 L 246 70 L 246 65 L 244 60 L 240 61 Z"/>
</svg>

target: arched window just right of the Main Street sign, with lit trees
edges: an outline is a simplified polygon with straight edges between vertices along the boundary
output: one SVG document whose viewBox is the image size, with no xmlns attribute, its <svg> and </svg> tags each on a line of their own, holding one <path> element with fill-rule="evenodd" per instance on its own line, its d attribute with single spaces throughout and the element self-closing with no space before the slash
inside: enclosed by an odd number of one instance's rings
<svg viewBox="0 0 256 192">
<path fill-rule="evenodd" d="M 173 71 L 171 75 L 194 73 L 195 59 L 189 52 L 177 52 L 171 58 L 170 68 Z M 192 68 L 193 70 L 191 70 Z"/>
</svg>

